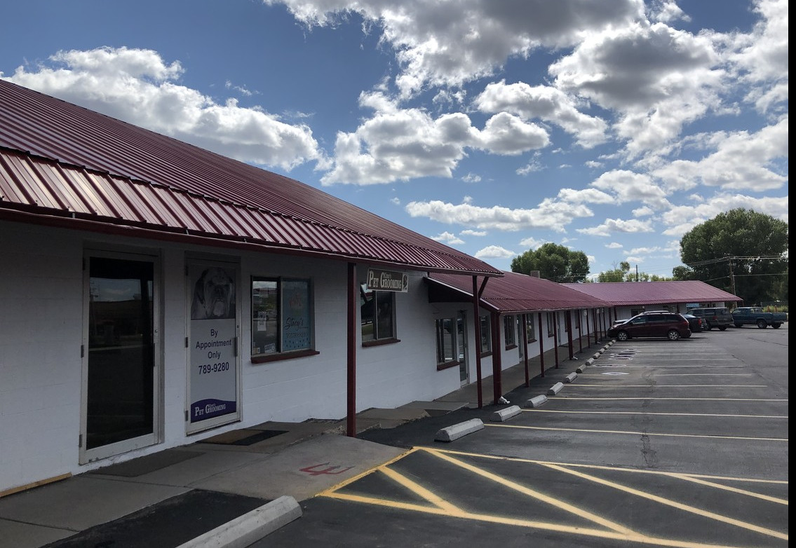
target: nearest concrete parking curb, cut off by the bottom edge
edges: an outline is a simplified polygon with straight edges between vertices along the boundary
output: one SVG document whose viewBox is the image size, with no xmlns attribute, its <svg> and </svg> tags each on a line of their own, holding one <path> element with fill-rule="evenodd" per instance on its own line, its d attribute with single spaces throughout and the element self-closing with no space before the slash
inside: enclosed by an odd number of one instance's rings
<svg viewBox="0 0 796 548">
<path fill-rule="evenodd" d="M 301 516 L 301 507 L 292 496 L 280 496 L 178 548 L 245 548 Z"/>
</svg>

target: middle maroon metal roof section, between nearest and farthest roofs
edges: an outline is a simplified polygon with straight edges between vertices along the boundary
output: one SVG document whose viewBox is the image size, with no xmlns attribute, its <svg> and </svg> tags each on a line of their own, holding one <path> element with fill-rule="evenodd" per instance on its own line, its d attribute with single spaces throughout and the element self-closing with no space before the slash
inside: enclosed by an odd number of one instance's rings
<svg viewBox="0 0 796 548">
<path fill-rule="evenodd" d="M 431 284 L 450 286 L 463 295 L 472 297 L 472 278 L 456 274 L 432 274 L 426 279 Z M 490 278 L 486 282 L 481 301 L 483 305 L 500 313 L 592 309 L 609 306 L 607 302 L 599 298 L 569 289 L 562 284 L 517 272 L 505 272 L 503 278 Z"/>
</svg>

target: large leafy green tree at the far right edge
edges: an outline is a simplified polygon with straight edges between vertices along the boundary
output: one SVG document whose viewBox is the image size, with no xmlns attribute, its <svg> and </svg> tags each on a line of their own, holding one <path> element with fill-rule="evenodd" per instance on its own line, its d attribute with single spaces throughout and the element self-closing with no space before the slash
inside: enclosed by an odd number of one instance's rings
<svg viewBox="0 0 796 548">
<path fill-rule="evenodd" d="M 785 221 L 732 209 L 693 227 L 683 235 L 680 248 L 689 269 L 675 269 L 677 279 L 702 280 L 741 297 L 747 305 L 787 298 Z"/>
</svg>

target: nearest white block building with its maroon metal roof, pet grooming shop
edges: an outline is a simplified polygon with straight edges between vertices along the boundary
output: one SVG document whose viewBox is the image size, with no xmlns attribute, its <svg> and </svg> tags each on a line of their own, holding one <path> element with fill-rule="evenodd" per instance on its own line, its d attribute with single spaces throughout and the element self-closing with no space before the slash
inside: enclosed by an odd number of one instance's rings
<svg viewBox="0 0 796 548">
<path fill-rule="evenodd" d="M 2 80 L 0 257 L 0 495 L 271 420 L 348 418 L 353 435 L 358 411 L 522 356 L 500 319 L 517 310 L 430 300 L 430 276 L 500 270 Z"/>
</svg>

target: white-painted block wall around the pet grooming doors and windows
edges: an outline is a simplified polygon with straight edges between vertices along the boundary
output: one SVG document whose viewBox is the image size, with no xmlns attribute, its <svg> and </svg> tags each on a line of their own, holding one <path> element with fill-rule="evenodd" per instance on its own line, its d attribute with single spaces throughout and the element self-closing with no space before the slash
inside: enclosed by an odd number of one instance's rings
<svg viewBox="0 0 796 548">
<path fill-rule="evenodd" d="M 82 263 L 88 245 L 108 250 L 130 246 L 160 256 L 160 360 L 155 391 L 160 441 L 80 465 Z M 206 255 L 208 251 L 177 243 L 0 222 L 0 492 L 261 422 L 345 417 L 346 263 L 211 250 L 216 251 L 212 258 L 240 261 L 241 420 L 186 435 L 189 352 L 185 348 L 185 262 L 186 254 Z M 357 266 L 363 277 L 366 269 L 366 265 Z M 458 368 L 436 370 L 434 316 L 427 302 L 423 273 L 409 274 L 408 293 L 396 293 L 396 335 L 400 342 L 365 348 L 357 338 L 357 411 L 434 399 L 460 386 Z M 252 275 L 312 279 L 318 355 L 252 363 Z M 472 322 L 469 324 L 471 329 Z"/>
</svg>

